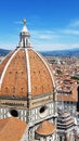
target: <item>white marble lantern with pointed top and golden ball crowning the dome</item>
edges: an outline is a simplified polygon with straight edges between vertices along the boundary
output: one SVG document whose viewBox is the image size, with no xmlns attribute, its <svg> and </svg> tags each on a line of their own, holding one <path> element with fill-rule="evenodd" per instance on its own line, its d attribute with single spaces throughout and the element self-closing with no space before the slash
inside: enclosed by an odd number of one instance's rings
<svg viewBox="0 0 79 141">
<path fill-rule="evenodd" d="M 23 29 L 19 34 L 19 37 L 21 37 L 19 47 L 28 48 L 28 47 L 30 47 L 30 42 L 29 42 L 30 35 L 29 35 L 29 31 L 26 27 L 26 18 L 24 18 L 23 24 L 24 24 L 24 26 L 23 26 Z"/>
</svg>

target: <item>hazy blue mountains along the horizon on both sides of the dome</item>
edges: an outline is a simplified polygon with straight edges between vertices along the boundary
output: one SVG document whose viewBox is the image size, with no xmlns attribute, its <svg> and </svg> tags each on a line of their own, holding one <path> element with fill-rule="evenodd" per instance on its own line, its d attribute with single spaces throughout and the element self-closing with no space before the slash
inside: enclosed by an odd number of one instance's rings
<svg viewBox="0 0 79 141">
<path fill-rule="evenodd" d="M 10 50 L 0 49 L 0 56 L 6 55 Z M 78 56 L 79 49 L 69 49 L 69 50 L 57 50 L 57 51 L 40 51 L 44 56 Z"/>
</svg>

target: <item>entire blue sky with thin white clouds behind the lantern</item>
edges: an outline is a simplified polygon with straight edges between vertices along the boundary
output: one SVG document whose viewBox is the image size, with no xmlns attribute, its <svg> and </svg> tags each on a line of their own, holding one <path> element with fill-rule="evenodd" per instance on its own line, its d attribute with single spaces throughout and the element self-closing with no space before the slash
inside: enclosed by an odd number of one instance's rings
<svg viewBox="0 0 79 141">
<path fill-rule="evenodd" d="M 1 0 L 1 49 L 16 48 L 24 18 L 36 50 L 79 48 L 79 0 Z"/>
</svg>

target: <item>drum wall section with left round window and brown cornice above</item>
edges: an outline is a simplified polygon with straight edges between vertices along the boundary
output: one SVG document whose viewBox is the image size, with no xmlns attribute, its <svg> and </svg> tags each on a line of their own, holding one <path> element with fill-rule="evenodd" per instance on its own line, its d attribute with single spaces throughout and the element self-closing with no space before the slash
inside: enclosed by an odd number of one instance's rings
<svg viewBox="0 0 79 141">
<path fill-rule="evenodd" d="M 27 101 L 1 100 L 0 105 L 0 119 L 13 116 L 27 120 Z"/>
</svg>

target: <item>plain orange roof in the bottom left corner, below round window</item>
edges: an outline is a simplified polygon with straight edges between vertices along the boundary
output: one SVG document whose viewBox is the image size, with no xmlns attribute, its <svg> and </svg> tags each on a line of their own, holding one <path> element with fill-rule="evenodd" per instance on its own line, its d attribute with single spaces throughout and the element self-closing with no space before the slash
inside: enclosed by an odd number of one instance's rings
<svg viewBox="0 0 79 141">
<path fill-rule="evenodd" d="M 0 141 L 21 141 L 26 128 L 26 123 L 15 117 L 0 119 Z"/>
</svg>

